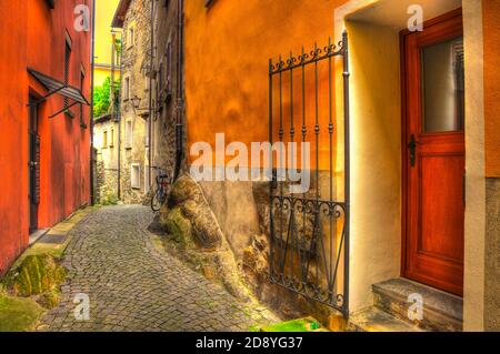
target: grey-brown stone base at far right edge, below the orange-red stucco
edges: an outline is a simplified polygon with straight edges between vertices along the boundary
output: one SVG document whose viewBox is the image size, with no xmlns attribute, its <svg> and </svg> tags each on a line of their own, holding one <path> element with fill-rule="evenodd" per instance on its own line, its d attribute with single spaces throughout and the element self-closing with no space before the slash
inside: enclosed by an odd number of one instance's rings
<svg viewBox="0 0 500 354">
<path fill-rule="evenodd" d="M 484 330 L 500 331 L 500 179 L 487 180 Z"/>
</svg>

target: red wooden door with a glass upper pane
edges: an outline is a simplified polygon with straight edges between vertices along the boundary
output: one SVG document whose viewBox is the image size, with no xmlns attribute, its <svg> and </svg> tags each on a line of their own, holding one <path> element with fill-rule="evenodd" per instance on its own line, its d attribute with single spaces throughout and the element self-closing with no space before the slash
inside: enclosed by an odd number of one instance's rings
<svg viewBox="0 0 500 354">
<path fill-rule="evenodd" d="M 461 295 L 464 71 L 461 11 L 402 33 L 403 275 Z"/>
</svg>

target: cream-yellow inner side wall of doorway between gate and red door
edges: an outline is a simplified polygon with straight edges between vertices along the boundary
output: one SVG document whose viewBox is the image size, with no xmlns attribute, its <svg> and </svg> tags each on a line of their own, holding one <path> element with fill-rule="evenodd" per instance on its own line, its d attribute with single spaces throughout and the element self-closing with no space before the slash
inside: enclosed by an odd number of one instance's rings
<svg viewBox="0 0 500 354">
<path fill-rule="evenodd" d="M 351 311 L 399 276 L 401 105 L 398 31 L 348 22 L 351 64 Z"/>
</svg>

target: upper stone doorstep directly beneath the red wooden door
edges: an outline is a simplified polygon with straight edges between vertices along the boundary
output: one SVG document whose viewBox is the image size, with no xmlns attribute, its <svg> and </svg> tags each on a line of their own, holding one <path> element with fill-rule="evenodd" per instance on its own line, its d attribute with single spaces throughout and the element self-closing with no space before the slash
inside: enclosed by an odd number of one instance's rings
<svg viewBox="0 0 500 354">
<path fill-rule="evenodd" d="M 372 285 L 374 306 L 410 323 L 408 318 L 410 294 L 423 299 L 423 321 L 416 324 L 426 331 L 462 331 L 461 297 L 406 279 L 392 279 Z"/>
</svg>

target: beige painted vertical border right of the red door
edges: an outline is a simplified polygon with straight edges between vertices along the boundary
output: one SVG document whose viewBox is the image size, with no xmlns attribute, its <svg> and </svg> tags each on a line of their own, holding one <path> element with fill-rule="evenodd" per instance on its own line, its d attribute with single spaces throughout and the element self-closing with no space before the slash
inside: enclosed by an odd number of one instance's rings
<svg viewBox="0 0 500 354">
<path fill-rule="evenodd" d="M 481 0 L 463 1 L 466 50 L 466 256 L 463 328 L 484 328 L 484 84 Z"/>
</svg>

